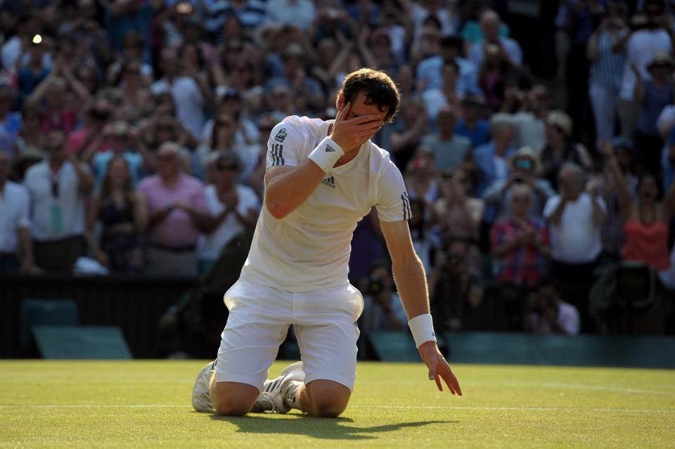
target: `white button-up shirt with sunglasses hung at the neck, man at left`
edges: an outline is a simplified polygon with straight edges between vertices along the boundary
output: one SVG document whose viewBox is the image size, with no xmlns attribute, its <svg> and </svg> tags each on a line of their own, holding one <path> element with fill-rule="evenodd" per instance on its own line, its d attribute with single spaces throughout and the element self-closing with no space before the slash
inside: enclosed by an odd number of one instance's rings
<svg viewBox="0 0 675 449">
<path fill-rule="evenodd" d="M 91 173 L 88 165 L 80 165 Z M 56 174 L 48 161 L 35 164 L 26 171 L 23 186 L 32 203 L 34 240 L 62 240 L 84 233 L 84 195 L 79 191 L 79 178 L 70 162 L 63 162 Z M 58 195 L 53 195 L 55 192 Z"/>
</svg>

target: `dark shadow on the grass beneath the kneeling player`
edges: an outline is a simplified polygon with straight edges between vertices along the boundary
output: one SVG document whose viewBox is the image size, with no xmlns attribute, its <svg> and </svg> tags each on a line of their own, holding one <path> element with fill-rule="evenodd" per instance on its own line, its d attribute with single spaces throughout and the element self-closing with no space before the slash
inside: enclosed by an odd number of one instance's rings
<svg viewBox="0 0 675 449">
<path fill-rule="evenodd" d="M 369 440 L 378 438 L 372 434 L 391 432 L 406 427 L 421 427 L 428 424 L 449 424 L 458 421 L 418 421 L 399 422 L 382 426 L 357 427 L 348 425 L 354 422 L 351 418 L 316 418 L 307 415 L 286 415 L 287 419 L 272 419 L 265 415 L 245 415 L 228 417 L 211 415 L 214 421 L 226 421 L 239 427 L 238 432 L 248 434 L 290 434 L 307 435 L 314 438 L 333 440 Z M 288 419 L 290 418 L 290 419 Z"/>
</svg>

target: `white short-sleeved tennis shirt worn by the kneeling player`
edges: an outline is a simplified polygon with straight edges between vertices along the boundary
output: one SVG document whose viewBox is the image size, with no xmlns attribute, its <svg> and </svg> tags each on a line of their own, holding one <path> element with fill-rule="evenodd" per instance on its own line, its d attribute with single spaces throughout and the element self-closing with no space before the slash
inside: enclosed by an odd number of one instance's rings
<svg viewBox="0 0 675 449">
<path fill-rule="evenodd" d="M 272 129 L 267 167 L 297 166 L 328 134 L 330 122 L 286 117 Z M 346 285 L 356 223 L 375 206 L 382 221 L 411 218 L 403 176 L 389 153 L 368 141 L 333 167 L 299 207 L 275 219 L 263 202 L 241 279 L 288 292 Z"/>
</svg>

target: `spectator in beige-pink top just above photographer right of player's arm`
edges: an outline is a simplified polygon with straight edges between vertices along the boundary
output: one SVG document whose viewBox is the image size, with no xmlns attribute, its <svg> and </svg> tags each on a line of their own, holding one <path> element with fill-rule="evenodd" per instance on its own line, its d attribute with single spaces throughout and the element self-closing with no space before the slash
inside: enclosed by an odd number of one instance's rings
<svg viewBox="0 0 675 449">
<path fill-rule="evenodd" d="M 444 174 L 440 197 L 434 204 L 442 240 L 463 239 L 467 245 L 467 264 L 480 272 L 481 260 L 478 242 L 480 223 L 485 212 L 485 203 L 471 197 L 471 180 L 467 170 L 458 167 Z"/>
</svg>

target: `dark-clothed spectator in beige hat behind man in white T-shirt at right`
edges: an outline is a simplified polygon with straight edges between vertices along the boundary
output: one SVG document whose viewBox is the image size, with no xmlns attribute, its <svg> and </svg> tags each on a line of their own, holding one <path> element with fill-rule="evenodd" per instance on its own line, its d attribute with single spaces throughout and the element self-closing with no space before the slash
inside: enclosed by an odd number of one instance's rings
<svg viewBox="0 0 675 449">
<path fill-rule="evenodd" d="M 565 162 L 591 169 L 592 162 L 584 145 L 572 138 L 572 119 L 560 110 L 552 111 L 546 117 L 546 146 L 539 154 L 543 177 L 558 190 L 558 171 Z"/>
</svg>

